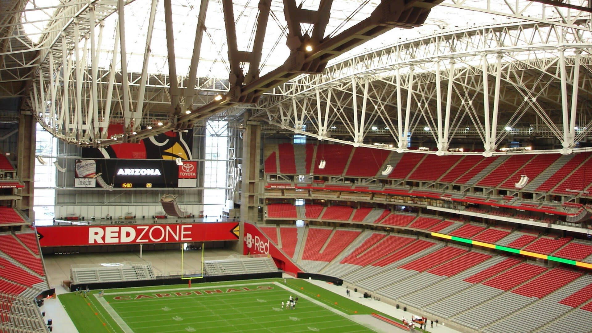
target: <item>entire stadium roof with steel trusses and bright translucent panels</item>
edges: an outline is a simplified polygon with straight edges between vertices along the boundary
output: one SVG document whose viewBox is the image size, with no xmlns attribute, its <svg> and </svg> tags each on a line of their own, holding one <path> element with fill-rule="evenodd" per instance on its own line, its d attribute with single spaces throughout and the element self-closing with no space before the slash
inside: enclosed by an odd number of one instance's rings
<svg viewBox="0 0 592 333">
<path fill-rule="evenodd" d="M 570 153 L 592 130 L 585 0 L 0 5 L 0 101 L 21 98 L 21 111 L 78 145 L 135 142 L 246 108 L 352 145 L 381 133 L 392 144 L 381 148 L 405 151 L 421 133 L 439 154 L 475 137 L 493 155 L 520 135 Z M 108 135 L 111 123 L 126 133 Z"/>
</svg>

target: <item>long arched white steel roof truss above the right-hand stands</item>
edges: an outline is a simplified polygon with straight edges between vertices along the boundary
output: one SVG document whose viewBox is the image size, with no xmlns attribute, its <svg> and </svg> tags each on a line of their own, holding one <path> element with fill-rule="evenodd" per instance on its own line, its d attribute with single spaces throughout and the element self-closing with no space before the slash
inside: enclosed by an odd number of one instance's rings
<svg viewBox="0 0 592 333">
<path fill-rule="evenodd" d="M 588 21 L 581 21 L 588 24 Z M 258 116 L 296 133 L 403 151 L 408 137 L 449 153 L 475 136 L 484 155 L 516 135 L 570 153 L 592 129 L 590 28 L 507 23 L 401 41 L 275 89 Z M 390 143 L 388 143 L 390 142 Z M 434 153 L 434 152 L 431 152 Z"/>
</svg>

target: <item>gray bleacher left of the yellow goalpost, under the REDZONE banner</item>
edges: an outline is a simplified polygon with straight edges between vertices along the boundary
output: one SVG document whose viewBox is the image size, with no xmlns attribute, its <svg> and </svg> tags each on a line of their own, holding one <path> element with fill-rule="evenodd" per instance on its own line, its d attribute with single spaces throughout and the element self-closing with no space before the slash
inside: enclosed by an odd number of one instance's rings
<svg viewBox="0 0 592 333">
<path fill-rule="evenodd" d="M 119 264 L 83 264 L 70 266 L 73 284 L 110 281 L 134 281 L 156 278 L 151 262 L 125 261 Z"/>
</svg>

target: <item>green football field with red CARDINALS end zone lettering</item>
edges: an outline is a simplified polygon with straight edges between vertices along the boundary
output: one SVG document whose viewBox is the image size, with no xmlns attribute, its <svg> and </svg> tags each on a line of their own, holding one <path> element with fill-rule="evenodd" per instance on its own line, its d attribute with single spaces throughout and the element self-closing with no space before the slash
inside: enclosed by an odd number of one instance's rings
<svg viewBox="0 0 592 333">
<path fill-rule="evenodd" d="M 299 298 L 295 309 L 285 308 L 290 295 Z M 298 279 L 111 289 L 104 297 L 93 290 L 86 298 L 59 298 L 79 332 L 374 332 L 360 315 L 376 312 Z"/>
</svg>

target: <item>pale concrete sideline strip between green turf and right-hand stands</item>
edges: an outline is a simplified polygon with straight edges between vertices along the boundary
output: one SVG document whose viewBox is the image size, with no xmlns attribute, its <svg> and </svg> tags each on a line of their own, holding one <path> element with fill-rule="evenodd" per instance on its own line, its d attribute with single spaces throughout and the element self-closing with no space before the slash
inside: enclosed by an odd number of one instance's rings
<svg viewBox="0 0 592 333">
<path fill-rule="evenodd" d="M 291 276 L 284 274 L 284 277 L 291 277 Z M 316 284 L 317 286 L 327 289 L 330 292 L 334 292 L 336 294 L 340 294 L 342 296 L 345 296 L 346 283 L 344 283 L 343 286 L 336 286 L 335 284 L 327 283 L 325 281 L 308 280 L 308 282 Z M 361 293 L 355 293 L 355 292 L 353 292 L 353 290 L 350 290 L 350 292 L 352 295 L 351 296 L 352 300 L 355 300 L 356 302 L 358 302 L 362 305 L 368 306 L 368 308 L 372 308 L 372 309 L 375 309 L 375 310 L 380 311 L 382 313 L 386 313 L 387 315 L 390 315 L 394 318 L 397 318 L 397 319 L 401 319 L 403 317 L 411 318 L 411 315 L 419 316 L 417 313 L 411 313 L 408 311 L 403 311 L 403 309 L 397 309 L 397 308 L 395 308 L 395 306 L 389 305 L 389 304 L 381 302 L 379 300 L 363 298 Z M 428 321 L 435 320 L 435 319 L 436 319 L 436 317 L 430 318 L 430 316 L 427 316 Z M 434 323 L 434 328 L 428 328 L 427 331 L 437 332 L 437 333 L 460 333 L 460 331 L 456 331 L 456 329 L 452 329 L 452 328 L 449 328 L 448 326 L 442 325 L 442 318 L 438 318 L 438 319 L 440 321 L 440 324 L 438 325 L 438 327 L 436 328 L 436 323 Z M 395 331 L 395 330 L 393 330 L 393 331 Z"/>
</svg>

